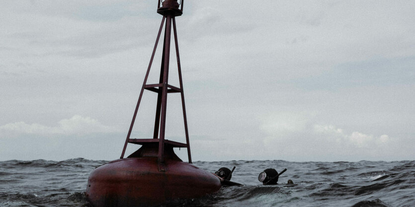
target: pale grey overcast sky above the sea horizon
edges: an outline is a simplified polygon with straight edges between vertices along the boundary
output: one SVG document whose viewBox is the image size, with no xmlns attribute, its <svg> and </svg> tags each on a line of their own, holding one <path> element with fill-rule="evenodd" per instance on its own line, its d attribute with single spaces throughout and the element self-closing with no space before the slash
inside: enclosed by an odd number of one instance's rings
<svg viewBox="0 0 415 207">
<path fill-rule="evenodd" d="M 119 158 L 156 10 L 1 1 L 0 160 Z M 176 25 L 192 160 L 414 160 L 414 11 L 411 0 L 185 1 Z M 174 64 L 169 84 L 179 86 Z M 156 101 L 144 93 L 131 138 L 152 138 Z M 178 94 L 166 116 L 166 139 L 185 142 Z"/>
</svg>

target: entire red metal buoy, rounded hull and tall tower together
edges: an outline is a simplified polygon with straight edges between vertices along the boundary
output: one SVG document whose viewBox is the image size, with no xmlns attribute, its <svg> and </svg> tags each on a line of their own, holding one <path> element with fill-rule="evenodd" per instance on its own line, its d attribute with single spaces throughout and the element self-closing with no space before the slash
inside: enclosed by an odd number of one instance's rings
<svg viewBox="0 0 415 207">
<path fill-rule="evenodd" d="M 162 6 L 160 6 L 161 2 L 163 2 Z M 180 16 L 182 11 L 183 0 L 180 0 L 180 2 L 177 0 L 159 0 L 157 12 L 163 15 L 163 20 L 124 148 L 120 159 L 95 168 L 89 175 L 85 195 L 92 206 L 157 206 L 170 200 L 202 197 L 221 188 L 217 176 L 190 164 L 192 160 L 175 22 L 175 16 Z M 159 83 L 147 84 L 150 68 L 165 23 Z M 176 50 L 179 88 L 168 84 L 171 27 L 173 28 Z M 145 89 L 158 94 L 153 138 L 130 139 Z M 186 143 L 165 139 L 166 105 L 167 94 L 169 93 L 180 93 Z M 142 147 L 124 158 L 128 143 L 142 145 Z M 189 163 L 185 163 L 177 157 L 173 148 L 186 148 Z"/>
</svg>

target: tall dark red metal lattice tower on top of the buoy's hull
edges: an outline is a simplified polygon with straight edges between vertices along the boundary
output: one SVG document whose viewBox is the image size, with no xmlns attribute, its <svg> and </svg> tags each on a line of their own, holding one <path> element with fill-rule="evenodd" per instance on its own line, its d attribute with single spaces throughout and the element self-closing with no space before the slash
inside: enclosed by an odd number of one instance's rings
<svg viewBox="0 0 415 207">
<path fill-rule="evenodd" d="M 165 161 L 165 151 L 166 146 L 168 148 L 186 148 L 189 163 L 192 163 L 191 154 L 190 154 L 190 145 L 189 145 L 189 133 L 187 129 L 187 118 L 186 118 L 186 107 L 184 104 L 184 93 L 183 93 L 183 82 L 181 76 L 181 67 L 180 67 L 180 56 L 177 43 L 177 31 L 176 31 L 176 22 L 175 17 L 180 16 L 183 13 L 183 0 L 179 2 L 177 0 L 159 0 L 157 13 L 163 15 L 162 23 L 160 25 L 159 33 L 156 38 L 156 43 L 154 45 L 153 53 L 150 58 L 150 63 L 147 68 L 146 76 L 144 78 L 144 83 L 141 88 L 140 96 L 134 111 L 134 115 L 130 124 L 130 128 L 125 140 L 124 148 L 121 153 L 121 159 L 124 158 L 125 150 L 128 143 L 146 145 L 150 143 L 158 143 L 158 162 L 163 163 Z M 147 79 L 150 74 L 150 69 L 153 63 L 153 59 L 157 50 L 157 46 L 160 40 L 160 36 L 165 26 L 164 34 L 164 43 L 163 43 L 163 53 L 162 53 L 162 63 L 160 67 L 160 79 L 159 83 L 156 84 L 147 84 Z M 170 42 L 171 42 L 171 29 L 173 30 L 174 36 L 174 46 L 175 53 L 177 58 L 177 72 L 179 79 L 179 87 L 175 87 L 168 84 L 168 70 L 169 70 L 169 60 L 170 60 Z M 137 112 L 140 106 L 141 99 L 143 97 L 144 90 L 149 90 L 158 94 L 157 105 L 156 105 L 156 115 L 155 115 L 155 124 L 154 124 L 154 133 L 152 139 L 131 139 L 131 131 L 134 126 L 135 119 L 137 117 Z M 184 131 L 186 136 L 186 143 L 179 143 L 170 140 L 166 140 L 166 106 L 167 106 L 167 95 L 169 93 L 180 93 L 181 104 L 183 111 L 183 120 L 184 120 Z M 160 131 L 159 131 L 160 129 Z M 163 167 L 160 169 L 163 170 Z"/>
</svg>

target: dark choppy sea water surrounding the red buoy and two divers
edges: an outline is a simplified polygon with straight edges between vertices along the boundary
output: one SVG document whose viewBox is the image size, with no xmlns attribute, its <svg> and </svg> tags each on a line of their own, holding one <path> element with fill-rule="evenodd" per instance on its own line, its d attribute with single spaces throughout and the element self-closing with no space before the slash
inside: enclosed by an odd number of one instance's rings
<svg viewBox="0 0 415 207">
<path fill-rule="evenodd" d="M 89 206 L 83 191 L 89 173 L 105 160 L 0 161 L 0 206 Z M 415 161 L 289 162 L 239 160 L 204 162 L 195 166 L 215 172 L 236 169 L 232 181 L 204 198 L 167 206 L 415 206 Z M 278 172 L 276 186 L 262 186 L 258 174 Z M 295 186 L 284 185 L 288 179 Z"/>
</svg>

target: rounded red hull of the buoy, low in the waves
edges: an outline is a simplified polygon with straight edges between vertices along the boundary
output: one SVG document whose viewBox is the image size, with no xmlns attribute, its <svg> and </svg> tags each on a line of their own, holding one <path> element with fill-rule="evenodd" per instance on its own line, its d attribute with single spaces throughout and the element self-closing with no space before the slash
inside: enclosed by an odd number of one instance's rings
<svg viewBox="0 0 415 207">
<path fill-rule="evenodd" d="M 220 180 L 192 164 L 157 157 L 117 159 L 95 168 L 86 198 L 92 206 L 157 206 L 199 198 L 221 188 Z"/>
</svg>

